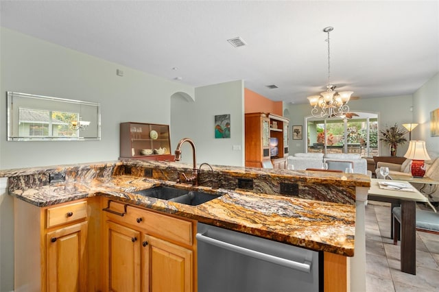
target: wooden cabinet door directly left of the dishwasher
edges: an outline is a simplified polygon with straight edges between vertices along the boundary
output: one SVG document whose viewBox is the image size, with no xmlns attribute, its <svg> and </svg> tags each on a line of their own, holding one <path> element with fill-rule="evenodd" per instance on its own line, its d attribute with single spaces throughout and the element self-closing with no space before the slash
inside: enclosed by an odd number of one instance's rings
<svg viewBox="0 0 439 292">
<path fill-rule="evenodd" d="M 193 291 L 193 252 L 185 247 L 143 236 L 143 291 Z"/>
</svg>

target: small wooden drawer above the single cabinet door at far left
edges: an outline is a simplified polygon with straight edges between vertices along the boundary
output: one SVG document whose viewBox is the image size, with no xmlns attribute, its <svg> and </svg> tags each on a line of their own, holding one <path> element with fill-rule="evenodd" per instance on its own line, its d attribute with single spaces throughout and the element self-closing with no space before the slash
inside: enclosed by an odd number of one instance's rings
<svg viewBox="0 0 439 292">
<path fill-rule="evenodd" d="M 87 202 L 47 209 L 47 228 L 87 217 Z"/>
</svg>

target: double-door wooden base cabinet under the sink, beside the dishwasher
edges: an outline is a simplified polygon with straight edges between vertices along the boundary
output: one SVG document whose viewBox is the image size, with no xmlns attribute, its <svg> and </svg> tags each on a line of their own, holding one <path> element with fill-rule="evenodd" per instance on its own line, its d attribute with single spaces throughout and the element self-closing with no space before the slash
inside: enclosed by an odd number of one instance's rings
<svg viewBox="0 0 439 292">
<path fill-rule="evenodd" d="M 102 206 L 110 210 L 103 212 L 104 291 L 195 290 L 194 222 L 108 199 Z"/>
</svg>

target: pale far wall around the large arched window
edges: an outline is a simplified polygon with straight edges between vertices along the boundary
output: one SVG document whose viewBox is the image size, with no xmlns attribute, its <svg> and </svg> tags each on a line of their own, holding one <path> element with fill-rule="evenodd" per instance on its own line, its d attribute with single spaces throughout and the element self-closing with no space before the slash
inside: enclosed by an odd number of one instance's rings
<svg viewBox="0 0 439 292">
<path fill-rule="evenodd" d="M 305 98 L 305 97 L 304 97 Z M 291 114 L 290 125 L 303 125 L 305 131 L 305 117 L 311 115 L 311 106 L 309 104 L 286 104 L 285 105 Z M 376 112 L 379 117 L 380 130 L 385 127 L 390 127 L 397 123 L 401 129 L 403 129 L 403 123 L 412 123 L 412 95 L 400 95 L 395 97 L 380 97 L 372 99 L 357 99 L 349 101 L 348 104 L 351 112 Z M 413 120 L 414 123 L 417 123 Z M 417 129 L 412 132 L 412 138 Z M 292 136 L 291 133 L 290 137 Z M 409 140 L 408 134 L 406 135 L 407 141 Z M 290 140 L 290 154 L 304 152 L 305 151 L 305 139 L 306 133 L 304 133 L 303 140 Z M 396 155 L 403 156 L 407 151 L 408 143 L 399 145 Z M 380 155 L 390 156 L 388 145 L 380 143 Z"/>
</svg>

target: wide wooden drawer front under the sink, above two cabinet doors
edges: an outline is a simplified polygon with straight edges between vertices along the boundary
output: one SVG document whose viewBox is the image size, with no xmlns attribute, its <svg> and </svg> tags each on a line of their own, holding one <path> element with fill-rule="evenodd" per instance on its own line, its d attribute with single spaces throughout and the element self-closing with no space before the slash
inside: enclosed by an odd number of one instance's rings
<svg viewBox="0 0 439 292">
<path fill-rule="evenodd" d="M 118 202 L 111 202 L 110 210 L 123 213 L 125 212 L 124 205 Z M 193 228 L 190 221 L 161 215 L 130 205 L 127 206 L 123 217 L 112 212 L 107 212 L 106 217 L 112 219 L 112 221 L 130 224 L 130 226 L 135 226 L 142 232 L 161 237 L 162 239 L 193 245 Z"/>
</svg>

